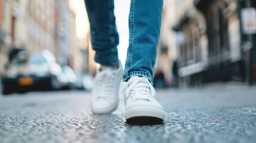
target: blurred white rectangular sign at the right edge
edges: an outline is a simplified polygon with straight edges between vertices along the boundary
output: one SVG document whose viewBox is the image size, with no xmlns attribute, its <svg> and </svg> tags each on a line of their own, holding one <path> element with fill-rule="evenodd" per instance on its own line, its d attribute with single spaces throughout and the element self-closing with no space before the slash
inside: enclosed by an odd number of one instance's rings
<svg viewBox="0 0 256 143">
<path fill-rule="evenodd" d="M 243 33 L 255 34 L 256 33 L 256 9 L 255 8 L 243 8 L 242 14 L 242 26 Z"/>
</svg>

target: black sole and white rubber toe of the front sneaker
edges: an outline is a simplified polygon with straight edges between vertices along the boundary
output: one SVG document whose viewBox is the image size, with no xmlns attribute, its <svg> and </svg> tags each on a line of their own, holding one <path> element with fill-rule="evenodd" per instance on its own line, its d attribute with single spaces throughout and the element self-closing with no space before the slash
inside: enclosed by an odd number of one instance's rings
<svg viewBox="0 0 256 143">
<path fill-rule="evenodd" d="M 159 124 L 164 121 L 165 112 L 156 107 L 132 107 L 125 111 L 129 124 Z"/>
</svg>

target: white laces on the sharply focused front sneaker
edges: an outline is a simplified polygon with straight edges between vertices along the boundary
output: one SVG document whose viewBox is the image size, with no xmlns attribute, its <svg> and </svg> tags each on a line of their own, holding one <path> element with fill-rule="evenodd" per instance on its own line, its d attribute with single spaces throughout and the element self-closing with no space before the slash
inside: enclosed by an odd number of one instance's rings
<svg viewBox="0 0 256 143">
<path fill-rule="evenodd" d="M 132 83 L 128 83 L 120 92 L 121 101 L 127 101 L 127 98 L 131 96 L 132 100 L 147 100 L 156 95 L 156 91 L 149 81 L 147 83 L 141 82 L 141 79 L 137 79 Z"/>
</svg>

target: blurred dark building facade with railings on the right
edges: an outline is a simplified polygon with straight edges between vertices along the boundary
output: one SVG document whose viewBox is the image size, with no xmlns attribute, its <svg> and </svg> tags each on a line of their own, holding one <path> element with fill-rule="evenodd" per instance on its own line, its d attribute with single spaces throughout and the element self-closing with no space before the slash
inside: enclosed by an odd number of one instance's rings
<svg viewBox="0 0 256 143">
<path fill-rule="evenodd" d="M 172 29 L 181 85 L 248 80 L 248 35 L 242 31 L 241 20 L 241 10 L 249 7 L 248 2 L 256 7 L 256 2 L 249 0 L 175 0 Z M 254 35 L 251 41 L 255 43 Z M 252 55 L 256 56 L 255 50 Z M 255 80 L 255 58 L 252 63 Z"/>
</svg>

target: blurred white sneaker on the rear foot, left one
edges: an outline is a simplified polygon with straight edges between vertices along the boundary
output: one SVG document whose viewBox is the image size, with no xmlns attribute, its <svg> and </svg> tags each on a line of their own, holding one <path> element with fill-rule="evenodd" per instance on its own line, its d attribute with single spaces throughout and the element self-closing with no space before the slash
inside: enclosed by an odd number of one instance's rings
<svg viewBox="0 0 256 143">
<path fill-rule="evenodd" d="M 94 114 L 110 114 L 118 107 L 118 90 L 122 78 L 122 64 L 98 70 L 92 88 L 91 110 Z"/>
</svg>

